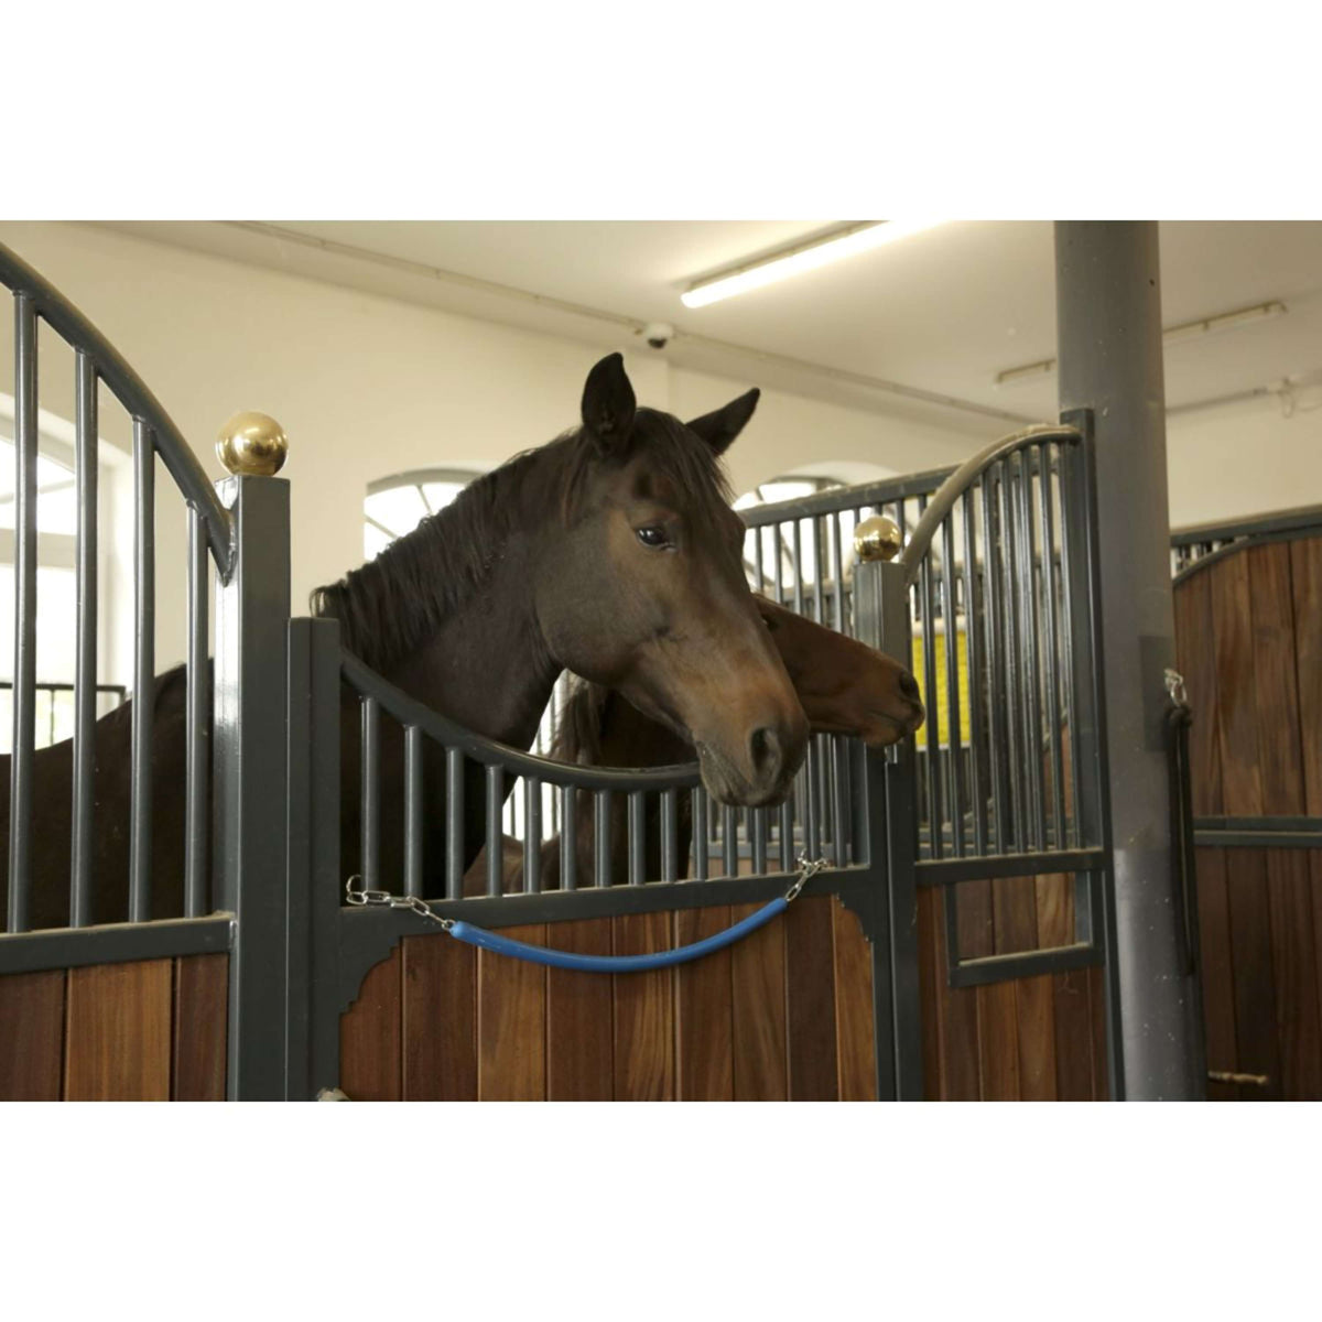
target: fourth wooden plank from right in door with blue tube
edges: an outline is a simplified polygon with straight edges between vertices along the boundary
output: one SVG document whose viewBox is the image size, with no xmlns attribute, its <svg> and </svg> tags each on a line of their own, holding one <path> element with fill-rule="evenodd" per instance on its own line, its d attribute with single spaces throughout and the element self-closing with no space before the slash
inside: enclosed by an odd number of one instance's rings
<svg viewBox="0 0 1322 1322">
<path fill-rule="evenodd" d="M 691 945 L 730 927 L 730 906 L 681 910 L 676 945 Z M 732 1101 L 734 984 L 730 951 L 676 969 L 676 1068 L 681 1101 Z"/>
</svg>

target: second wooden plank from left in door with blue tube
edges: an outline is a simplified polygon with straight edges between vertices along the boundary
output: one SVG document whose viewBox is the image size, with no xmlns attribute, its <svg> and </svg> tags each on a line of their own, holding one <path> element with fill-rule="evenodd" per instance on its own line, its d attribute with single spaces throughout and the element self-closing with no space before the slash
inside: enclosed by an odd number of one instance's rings
<svg viewBox="0 0 1322 1322">
<path fill-rule="evenodd" d="M 402 944 L 405 1101 L 476 1101 L 477 951 L 448 936 Z"/>
</svg>

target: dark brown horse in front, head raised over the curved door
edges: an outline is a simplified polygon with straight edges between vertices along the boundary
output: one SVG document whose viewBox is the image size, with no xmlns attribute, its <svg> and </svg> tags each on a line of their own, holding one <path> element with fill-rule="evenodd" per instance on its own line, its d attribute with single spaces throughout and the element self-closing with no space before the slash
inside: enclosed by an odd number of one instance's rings
<svg viewBox="0 0 1322 1322">
<path fill-rule="evenodd" d="M 758 391 L 685 424 L 636 407 L 620 354 L 599 362 L 582 424 L 479 479 L 375 561 L 313 595 L 349 650 L 410 697 L 526 748 L 562 669 L 609 685 L 698 748 L 723 802 L 780 801 L 808 723 L 743 575 L 743 524 L 719 456 Z M 182 910 L 182 672 L 157 680 L 152 754 L 156 916 Z M 98 723 L 97 921 L 127 912 L 130 715 Z M 358 702 L 341 709 L 341 866 L 358 870 Z M 424 765 L 424 876 L 440 894 L 442 751 Z M 402 734 L 382 722 L 382 875 L 399 875 Z M 465 854 L 483 838 L 480 768 Z M 8 759 L 0 824 L 8 842 Z M 393 777 L 393 780 L 391 780 Z M 33 927 L 67 921 L 71 748 L 37 756 Z"/>
</svg>

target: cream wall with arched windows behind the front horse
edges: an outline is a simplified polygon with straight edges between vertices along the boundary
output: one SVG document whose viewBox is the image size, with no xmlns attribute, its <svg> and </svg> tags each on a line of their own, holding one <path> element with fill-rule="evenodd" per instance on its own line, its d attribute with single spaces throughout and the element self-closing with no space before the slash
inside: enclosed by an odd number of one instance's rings
<svg viewBox="0 0 1322 1322">
<path fill-rule="evenodd" d="M 295 609 L 362 559 L 368 483 L 410 468 L 490 468 L 578 419 L 600 348 L 453 316 L 85 225 L 0 223 L 0 242 L 42 272 L 119 349 L 213 477 L 213 444 L 256 408 L 290 436 Z M 9 357 L 8 327 L 0 353 Z M 628 368 L 642 403 L 683 416 L 756 382 Z M 44 348 L 42 406 L 73 416 L 71 361 Z M 127 447 L 107 408 L 103 434 Z M 906 472 L 954 463 L 977 440 L 908 420 L 768 393 L 730 451 L 735 488 L 809 461 Z M 182 657 L 184 514 L 157 479 L 157 669 Z"/>
</svg>

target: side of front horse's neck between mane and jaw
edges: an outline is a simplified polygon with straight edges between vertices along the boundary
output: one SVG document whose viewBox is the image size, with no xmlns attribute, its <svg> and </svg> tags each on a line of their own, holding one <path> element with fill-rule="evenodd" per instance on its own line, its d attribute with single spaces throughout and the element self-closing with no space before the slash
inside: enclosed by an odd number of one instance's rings
<svg viewBox="0 0 1322 1322">
<path fill-rule="evenodd" d="M 527 748 L 559 674 L 530 582 L 527 539 L 510 538 L 486 583 L 386 678 L 476 734 Z"/>
</svg>

